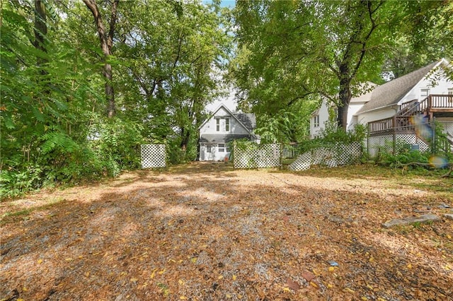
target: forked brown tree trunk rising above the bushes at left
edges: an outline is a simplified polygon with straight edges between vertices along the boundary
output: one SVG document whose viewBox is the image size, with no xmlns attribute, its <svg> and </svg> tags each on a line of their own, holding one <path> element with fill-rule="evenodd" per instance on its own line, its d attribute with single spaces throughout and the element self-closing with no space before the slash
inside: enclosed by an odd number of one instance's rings
<svg viewBox="0 0 453 301">
<path fill-rule="evenodd" d="M 107 60 L 110 55 L 112 55 L 112 46 L 113 46 L 113 33 L 115 32 L 115 23 L 117 19 L 117 6 L 120 0 L 113 1 L 112 8 L 110 10 L 110 28 L 108 33 L 105 30 L 105 25 L 101 13 L 96 4 L 96 0 L 83 0 L 86 6 L 93 13 L 94 22 L 96 23 L 96 28 L 98 30 L 99 41 L 101 42 L 101 50 L 104 54 L 104 68 L 103 76 L 105 77 L 105 98 L 107 100 L 107 116 L 109 118 L 115 116 L 116 107 L 115 107 L 115 92 L 113 90 L 113 73 L 112 65 L 108 64 Z"/>
</svg>

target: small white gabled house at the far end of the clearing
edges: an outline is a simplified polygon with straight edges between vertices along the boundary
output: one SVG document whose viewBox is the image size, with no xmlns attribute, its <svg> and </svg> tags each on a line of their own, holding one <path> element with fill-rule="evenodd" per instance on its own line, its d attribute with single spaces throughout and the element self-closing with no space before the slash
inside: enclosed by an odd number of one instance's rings
<svg viewBox="0 0 453 301">
<path fill-rule="evenodd" d="M 254 114 L 231 112 L 225 105 L 220 105 L 199 128 L 200 161 L 229 158 L 231 142 L 237 139 L 259 142 L 259 137 L 253 134 L 255 128 Z"/>
</svg>

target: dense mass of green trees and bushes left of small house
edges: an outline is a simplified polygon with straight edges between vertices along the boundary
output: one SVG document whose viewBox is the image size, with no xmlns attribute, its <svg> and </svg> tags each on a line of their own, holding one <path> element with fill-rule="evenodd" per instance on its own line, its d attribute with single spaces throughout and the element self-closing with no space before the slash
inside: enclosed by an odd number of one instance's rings
<svg viewBox="0 0 453 301">
<path fill-rule="evenodd" d="M 197 127 L 229 55 L 228 9 L 147 0 L 0 6 L 0 196 L 115 177 L 139 167 L 142 143 L 165 143 L 169 163 L 196 158 Z M 101 48 L 93 11 L 105 27 Z"/>
</svg>

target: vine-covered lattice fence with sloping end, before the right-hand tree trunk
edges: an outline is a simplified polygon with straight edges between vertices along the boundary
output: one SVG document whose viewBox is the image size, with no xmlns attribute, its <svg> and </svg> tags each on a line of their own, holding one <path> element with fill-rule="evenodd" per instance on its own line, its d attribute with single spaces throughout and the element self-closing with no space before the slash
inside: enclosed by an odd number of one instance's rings
<svg viewBox="0 0 453 301">
<path fill-rule="evenodd" d="M 347 145 L 337 143 L 336 146 L 332 146 L 331 148 L 315 148 L 313 151 L 299 155 L 288 166 L 288 169 L 294 171 L 308 170 L 311 165 L 336 167 L 355 162 L 360 158 L 360 155 L 362 155 L 360 143 L 356 142 Z"/>
</svg>

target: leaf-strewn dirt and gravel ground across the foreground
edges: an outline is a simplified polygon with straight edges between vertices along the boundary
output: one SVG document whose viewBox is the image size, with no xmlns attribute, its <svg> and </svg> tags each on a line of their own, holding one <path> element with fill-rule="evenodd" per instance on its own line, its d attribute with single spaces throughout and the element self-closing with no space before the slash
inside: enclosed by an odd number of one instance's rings
<svg viewBox="0 0 453 301">
<path fill-rule="evenodd" d="M 453 300 L 453 181 L 193 163 L 0 203 L 0 300 Z"/>
</svg>

